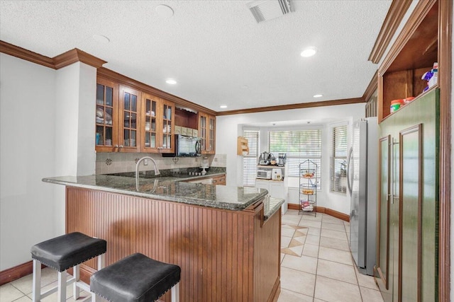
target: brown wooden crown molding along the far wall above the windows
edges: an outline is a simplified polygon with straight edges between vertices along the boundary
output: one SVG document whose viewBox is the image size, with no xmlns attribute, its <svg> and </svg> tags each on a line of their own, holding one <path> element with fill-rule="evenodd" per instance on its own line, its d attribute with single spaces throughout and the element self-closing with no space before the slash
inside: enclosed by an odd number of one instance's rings
<svg viewBox="0 0 454 302">
<path fill-rule="evenodd" d="M 291 109 L 346 105 L 346 104 L 356 104 L 356 103 L 365 103 L 365 100 L 363 98 L 344 98 L 341 100 L 324 100 L 324 101 L 311 102 L 311 103 L 298 103 L 298 104 L 290 104 L 290 105 L 278 105 L 278 106 L 240 109 L 240 110 L 219 111 L 219 112 L 216 112 L 216 115 L 240 115 L 240 114 L 245 114 L 245 113 L 291 110 Z"/>
</svg>

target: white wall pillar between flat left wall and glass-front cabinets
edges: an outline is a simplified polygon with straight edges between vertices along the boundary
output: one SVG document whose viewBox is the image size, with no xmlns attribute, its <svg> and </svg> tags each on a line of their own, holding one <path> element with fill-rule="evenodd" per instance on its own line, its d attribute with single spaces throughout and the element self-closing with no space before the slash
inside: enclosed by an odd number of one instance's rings
<svg viewBox="0 0 454 302">
<path fill-rule="evenodd" d="M 96 69 L 77 62 L 57 70 L 55 100 L 55 172 L 48 176 L 94 174 Z M 65 233 L 65 187 L 52 186 L 55 232 L 62 235 Z"/>
</svg>

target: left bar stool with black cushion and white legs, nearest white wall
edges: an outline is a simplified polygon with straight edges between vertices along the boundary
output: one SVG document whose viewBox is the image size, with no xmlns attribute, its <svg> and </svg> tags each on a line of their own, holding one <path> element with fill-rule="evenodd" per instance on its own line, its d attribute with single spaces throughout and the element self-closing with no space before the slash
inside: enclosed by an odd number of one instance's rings
<svg viewBox="0 0 454 302">
<path fill-rule="evenodd" d="M 74 232 L 43 241 L 31 248 L 33 258 L 33 301 L 58 291 L 58 301 L 66 300 L 66 286 L 74 284 L 74 300 L 79 298 L 80 289 L 90 291 L 89 285 L 79 279 L 79 264 L 98 257 L 98 270 L 104 267 L 107 250 L 106 240 L 92 238 Z M 41 264 L 58 272 L 57 286 L 41 293 Z M 73 277 L 67 279 L 66 270 L 73 268 Z"/>
</svg>

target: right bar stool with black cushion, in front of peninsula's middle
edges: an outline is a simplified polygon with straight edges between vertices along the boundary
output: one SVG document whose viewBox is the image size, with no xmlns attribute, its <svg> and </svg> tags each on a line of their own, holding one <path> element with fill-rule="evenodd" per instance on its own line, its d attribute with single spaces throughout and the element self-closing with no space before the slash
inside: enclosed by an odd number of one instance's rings
<svg viewBox="0 0 454 302">
<path fill-rule="evenodd" d="M 92 302 L 149 302 L 171 289 L 172 302 L 179 301 L 181 268 L 135 253 L 95 272 L 90 278 Z"/>
</svg>

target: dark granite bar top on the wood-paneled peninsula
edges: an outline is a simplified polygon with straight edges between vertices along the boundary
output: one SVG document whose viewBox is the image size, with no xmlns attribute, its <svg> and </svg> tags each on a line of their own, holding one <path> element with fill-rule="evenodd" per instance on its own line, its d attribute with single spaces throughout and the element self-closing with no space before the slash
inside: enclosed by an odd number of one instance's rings
<svg viewBox="0 0 454 302">
<path fill-rule="evenodd" d="M 140 178 L 138 190 L 136 190 L 135 178 L 114 175 L 61 176 L 43 178 L 43 182 L 236 211 L 249 207 L 267 195 L 267 190 L 255 187 L 187 182 L 187 180 L 223 174 L 225 173 L 207 173 L 207 175 L 187 178 L 171 176 Z M 276 202 L 270 202 L 268 206 L 265 204 L 265 207 L 267 207 L 265 216 L 269 217 L 279 209 L 280 204 L 277 207 Z"/>
</svg>

